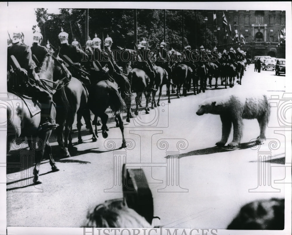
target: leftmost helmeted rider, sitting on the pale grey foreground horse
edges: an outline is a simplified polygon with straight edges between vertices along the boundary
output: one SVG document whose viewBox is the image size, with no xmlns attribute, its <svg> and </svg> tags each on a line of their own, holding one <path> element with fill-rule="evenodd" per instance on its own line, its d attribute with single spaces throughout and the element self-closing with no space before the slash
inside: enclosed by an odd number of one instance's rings
<svg viewBox="0 0 292 235">
<path fill-rule="evenodd" d="M 14 56 L 22 69 L 27 73 L 16 73 L 14 76 L 17 79 L 18 87 L 11 87 L 8 84 L 8 90 L 14 90 L 17 93 L 25 92 L 26 95 L 33 96 L 41 103 L 41 121 L 38 131 L 50 131 L 58 127 L 51 114 L 51 108 L 55 103 L 51 92 L 39 87 L 41 84 L 39 76 L 35 73 L 32 64 L 32 52 L 29 46 L 22 43 L 24 35 L 22 32 L 14 32 L 12 39 L 12 46 L 8 47 L 8 56 Z M 8 60 L 10 64 L 11 60 Z M 29 82 L 32 80 L 33 83 Z"/>
</svg>

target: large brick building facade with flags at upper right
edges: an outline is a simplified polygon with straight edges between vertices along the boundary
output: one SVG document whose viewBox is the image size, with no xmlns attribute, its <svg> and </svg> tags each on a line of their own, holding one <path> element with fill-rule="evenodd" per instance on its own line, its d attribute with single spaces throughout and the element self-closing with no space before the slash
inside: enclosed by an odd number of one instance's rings
<svg viewBox="0 0 292 235">
<path fill-rule="evenodd" d="M 276 2 L 275 2 L 276 4 Z M 219 51 L 230 47 L 240 47 L 248 57 L 272 56 L 285 58 L 285 37 L 281 30 L 286 28 L 286 11 L 224 11 L 228 25 L 223 27 L 223 11 L 216 11 L 214 26 L 213 11 L 204 11 L 207 16 L 207 27 L 214 30 L 214 45 Z M 229 30 L 231 26 L 231 35 Z M 238 39 L 235 39 L 237 30 Z M 243 37 L 241 37 L 241 35 Z M 244 44 L 244 42 L 245 44 Z"/>
</svg>

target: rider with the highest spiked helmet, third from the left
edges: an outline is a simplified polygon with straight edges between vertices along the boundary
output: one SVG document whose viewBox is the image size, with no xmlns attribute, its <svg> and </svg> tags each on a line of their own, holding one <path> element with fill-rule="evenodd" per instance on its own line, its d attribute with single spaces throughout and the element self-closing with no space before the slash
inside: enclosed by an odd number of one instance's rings
<svg viewBox="0 0 292 235">
<path fill-rule="evenodd" d="M 61 59 L 65 61 L 68 65 L 69 71 L 72 73 L 72 76 L 74 78 L 79 79 L 81 82 L 85 83 L 86 85 L 90 83 L 89 78 L 87 78 L 84 74 L 83 68 L 81 67 L 82 64 L 88 63 L 88 55 L 79 49 L 79 47 L 76 47 L 74 45 L 69 45 L 68 43 L 68 33 L 64 32 L 63 28 L 61 27 L 61 32 L 58 35 L 61 47 L 60 47 L 60 56 Z M 65 57 L 67 56 L 71 61 L 68 61 Z M 66 66 L 67 66 L 66 65 Z"/>
</svg>

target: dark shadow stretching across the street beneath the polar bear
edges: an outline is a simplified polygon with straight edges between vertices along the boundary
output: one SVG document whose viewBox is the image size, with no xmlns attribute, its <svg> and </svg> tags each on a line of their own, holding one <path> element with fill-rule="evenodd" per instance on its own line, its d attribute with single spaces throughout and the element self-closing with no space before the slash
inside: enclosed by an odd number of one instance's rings
<svg viewBox="0 0 292 235">
<path fill-rule="evenodd" d="M 224 146 L 224 147 L 217 147 L 217 146 L 209 147 L 209 148 L 193 150 L 193 151 L 190 151 L 190 152 L 186 152 L 186 153 L 180 154 L 179 158 L 193 156 L 193 155 L 206 155 L 206 154 L 213 154 L 213 153 L 218 153 L 218 152 L 230 152 L 230 151 L 234 151 L 234 150 L 242 150 L 242 149 L 249 148 L 249 146 L 250 146 L 249 143 L 242 143 L 242 144 L 240 144 L 240 147 L 236 148 L 236 149 L 231 149 L 231 148 L 228 148 L 227 146 Z M 169 156 L 167 156 L 167 157 L 169 157 Z"/>
</svg>

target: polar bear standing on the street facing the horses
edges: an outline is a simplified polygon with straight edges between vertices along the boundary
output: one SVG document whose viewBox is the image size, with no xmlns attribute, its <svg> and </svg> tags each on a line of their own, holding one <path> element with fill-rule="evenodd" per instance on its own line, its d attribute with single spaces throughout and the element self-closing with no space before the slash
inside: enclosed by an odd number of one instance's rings
<svg viewBox="0 0 292 235">
<path fill-rule="evenodd" d="M 224 146 L 228 140 L 231 123 L 233 124 L 233 140 L 228 147 L 237 148 L 242 137 L 242 119 L 257 119 L 260 125 L 260 135 L 257 142 L 260 144 L 266 139 L 265 130 L 270 117 L 268 96 L 263 91 L 238 93 L 211 97 L 199 104 L 197 115 L 218 114 L 222 121 L 222 138 L 216 143 Z"/>
</svg>

